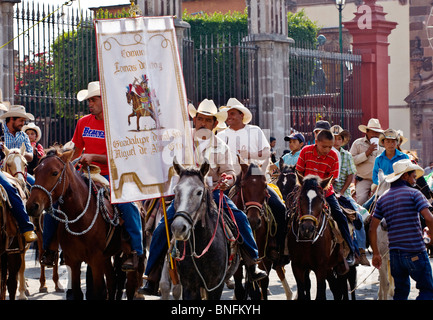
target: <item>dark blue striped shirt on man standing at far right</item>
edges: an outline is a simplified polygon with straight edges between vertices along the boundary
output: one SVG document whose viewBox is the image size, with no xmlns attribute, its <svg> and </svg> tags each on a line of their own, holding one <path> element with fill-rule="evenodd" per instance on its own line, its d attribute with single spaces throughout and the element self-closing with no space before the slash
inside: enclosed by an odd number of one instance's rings
<svg viewBox="0 0 433 320">
<path fill-rule="evenodd" d="M 389 249 L 407 252 L 425 250 L 419 212 L 428 208 L 429 202 L 421 191 L 405 181 L 391 184 L 387 193 L 379 198 L 373 217 L 385 218 L 388 226 Z"/>
</svg>

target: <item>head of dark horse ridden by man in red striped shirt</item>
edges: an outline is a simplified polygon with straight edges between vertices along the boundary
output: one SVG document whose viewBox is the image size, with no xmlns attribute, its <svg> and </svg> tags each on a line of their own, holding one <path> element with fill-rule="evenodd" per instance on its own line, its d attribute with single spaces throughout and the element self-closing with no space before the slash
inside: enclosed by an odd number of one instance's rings
<svg viewBox="0 0 433 320">
<path fill-rule="evenodd" d="M 308 175 L 304 178 L 298 172 L 296 174 L 301 185 L 298 199 L 299 239 L 310 241 L 317 234 L 323 219 L 322 212 L 326 201 L 324 190 L 330 186 L 332 176 L 322 180 L 318 176 Z"/>
</svg>

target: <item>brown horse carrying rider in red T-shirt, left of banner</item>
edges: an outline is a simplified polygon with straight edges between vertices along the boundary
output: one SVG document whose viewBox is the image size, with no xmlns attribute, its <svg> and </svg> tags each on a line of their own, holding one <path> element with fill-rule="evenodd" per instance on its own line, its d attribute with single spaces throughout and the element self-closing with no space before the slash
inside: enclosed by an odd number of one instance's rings
<svg viewBox="0 0 433 320">
<path fill-rule="evenodd" d="M 90 177 L 84 179 L 74 168 L 71 163 L 73 153 L 74 150 L 62 152 L 52 148 L 40 160 L 35 168 L 35 184 L 26 204 L 27 212 L 39 217 L 46 210 L 61 222 L 57 237 L 65 264 L 70 267 L 73 298 L 83 299 L 80 268 L 85 262 L 90 266 L 93 278 L 92 283 L 88 283 L 92 287 L 92 295 L 88 298 L 106 299 L 108 296 L 114 299 L 115 273 L 111 256 L 121 249 L 116 211 L 105 196 L 105 190 L 97 190 Z M 59 204 L 59 209 L 53 207 L 54 203 Z M 108 238 L 111 241 L 107 244 Z M 134 278 L 135 274 L 131 280 L 137 282 Z M 128 299 L 133 297 L 137 286 L 129 294 L 127 292 Z"/>
</svg>

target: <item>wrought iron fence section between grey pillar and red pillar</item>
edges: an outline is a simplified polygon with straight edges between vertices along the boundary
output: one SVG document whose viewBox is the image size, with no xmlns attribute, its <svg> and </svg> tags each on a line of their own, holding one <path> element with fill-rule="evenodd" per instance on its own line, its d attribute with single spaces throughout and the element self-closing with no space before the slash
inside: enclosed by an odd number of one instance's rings
<svg viewBox="0 0 433 320">
<path fill-rule="evenodd" d="M 343 69 L 341 69 L 343 66 Z M 361 132 L 361 56 L 305 46 L 290 48 L 291 127 L 312 143 L 317 120 L 342 125 L 352 141 Z M 343 105 L 341 105 L 343 76 Z M 342 124 L 343 123 L 343 124 Z"/>
</svg>

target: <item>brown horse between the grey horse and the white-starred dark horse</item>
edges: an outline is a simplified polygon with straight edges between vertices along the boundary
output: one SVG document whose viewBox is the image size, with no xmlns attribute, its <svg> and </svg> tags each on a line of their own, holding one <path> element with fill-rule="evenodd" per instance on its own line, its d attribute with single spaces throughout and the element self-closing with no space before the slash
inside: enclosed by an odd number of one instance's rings
<svg viewBox="0 0 433 320">
<path fill-rule="evenodd" d="M 243 208 L 243 211 L 248 217 L 251 228 L 255 233 L 257 246 L 259 249 L 259 257 L 263 257 L 259 264 L 259 268 L 266 271 L 268 274 L 275 268 L 279 279 L 283 284 L 284 291 L 288 300 L 292 298 L 292 291 L 285 277 L 284 266 L 277 264 L 279 256 L 282 253 L 271 250 L 275 248 L 276 222 L 273 219 L 267 205 L 269 197 L 267 191 L 267 183 L 265 173 L 256 164 L 240 163 L 241 173 L 238 175 L 236 185 L 233 190 L 236 190 L 231 196 L 233 202 L 238 208 Z M 271 245 L 271 243 L 273 245 Z M 235 296 L 237 299 L 245 297 L 246 293 L 242 286 L 242 269 L 239 269 L 235 276 Z M 261 297 L 267 300 L 268 297 L 269 277 L 260 281 Z"/>
</svg>

